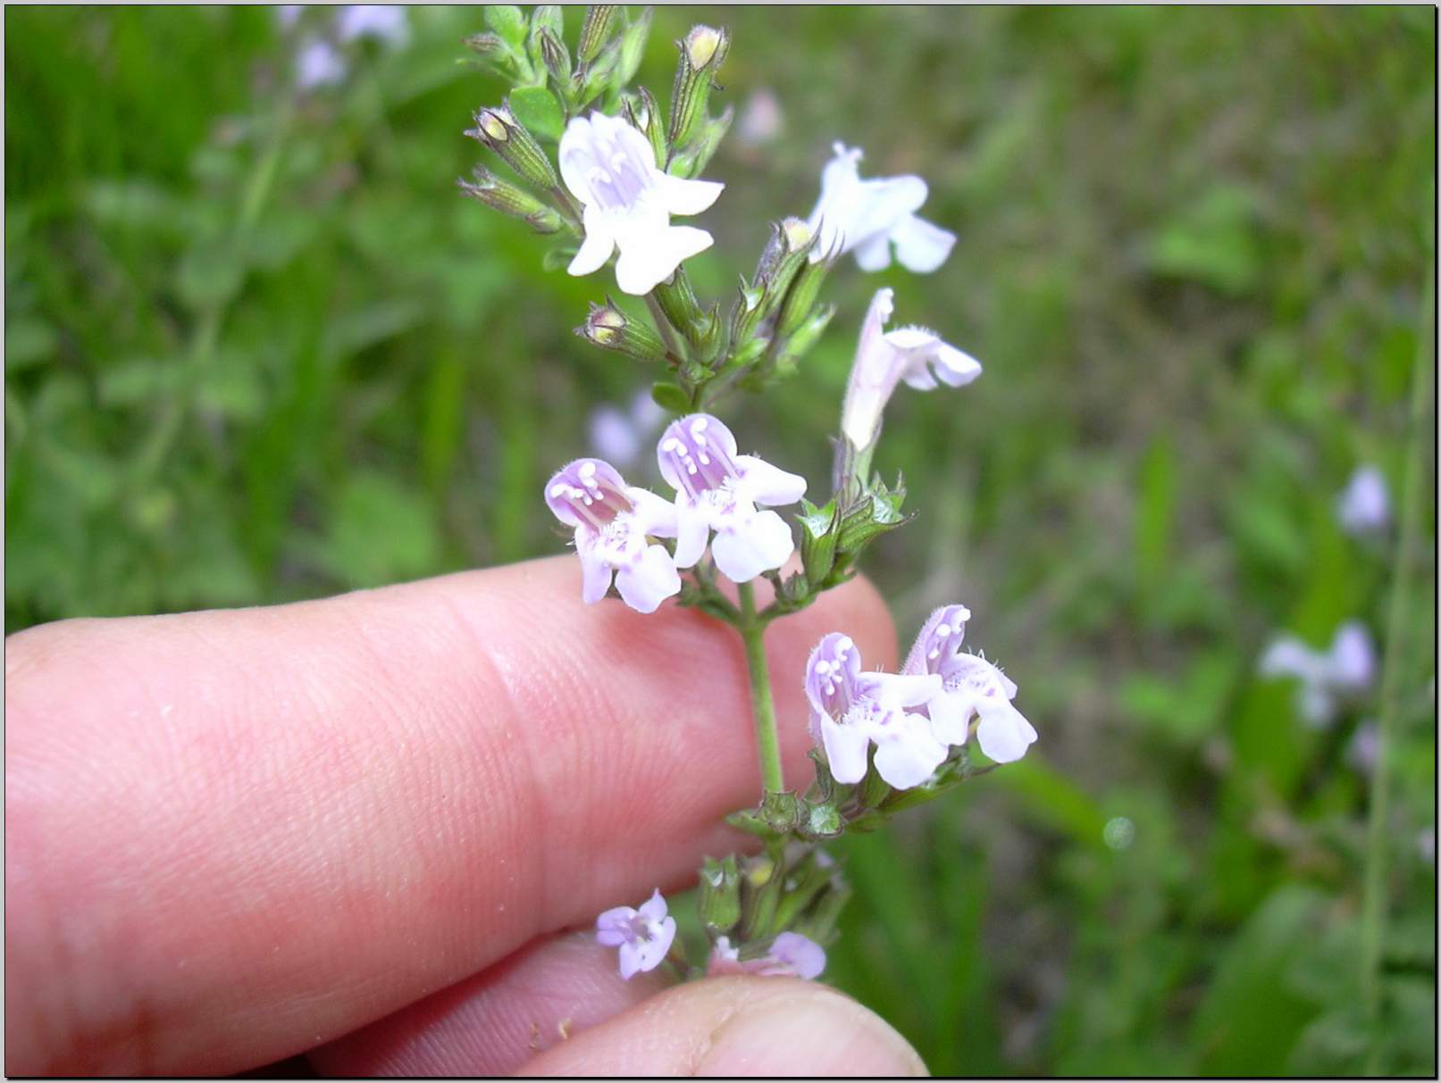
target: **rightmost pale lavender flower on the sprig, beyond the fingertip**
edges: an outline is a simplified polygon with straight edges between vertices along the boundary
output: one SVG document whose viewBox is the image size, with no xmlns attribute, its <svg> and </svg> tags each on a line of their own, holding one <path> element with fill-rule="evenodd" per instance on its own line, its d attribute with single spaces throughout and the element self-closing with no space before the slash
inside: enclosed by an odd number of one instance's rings
<svg viewBox="0 0 1441 1083">
<path fill-rule="evenodd" d="M 1036 729 L 1012 706 L 1016 684 L 980 655 L 961 651 L 971 611 L 945 605 L 931 614 L 901 673 L 935 674 L 941 691 L 925 704 L 931 732 L 947 745 L 964 745 L 971 719 L 980 716 L 976 739 L 997 763 L 1012 763 L 1036 742 Z"/>
</svg>

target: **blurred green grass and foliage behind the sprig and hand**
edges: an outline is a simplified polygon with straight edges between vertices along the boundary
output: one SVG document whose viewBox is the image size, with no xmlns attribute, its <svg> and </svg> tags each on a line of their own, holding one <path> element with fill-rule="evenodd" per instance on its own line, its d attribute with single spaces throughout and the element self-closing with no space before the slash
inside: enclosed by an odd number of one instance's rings
<svg viewBox="0 0 1441 1083">
<path fill-rule="evenodd" d="M 297 92 L 297 36 L 329 17 L 7 10 L 7 631 L 561 552 L 542 482 L 653 376 L 571 334 L 607 282 L 542 271 L 455 190 L 499 98 L 458 63 L 481 12 L 412 9 L 405 45 L 349 43 L 344 78 Z M 961 236 L 925 278 L 843 264 L 800 377 L 725 410 L 826 477 L 882 284 L 983 359 L 892 403 L 878 467 L 921 516 L 869 570 L 902 639 L 965 601 L 1042 733 L 843 847 L 831 979 L 937 1073 L 1434 1073 L 1429 392 L 1408 436 L 1434 10 L 670 7 L 640 79 L 663 101 L 692 22 L 731 27 L 742 114 L 706 174 L 729 187 L 703 292 L 810 210 L 834 138 L 924 174 Z M 1395 530 L 1357 542 L 1334 511 L 1362 462 L 1399 503 L 1408 458 L 1421 556 L 1398 567 Z M 1375 693 L 1308 729 L 1255 660 L 1347 618 L 1386 639 L 1393 595 L 1378 768 L 1355 740 Z"/>
</svg>

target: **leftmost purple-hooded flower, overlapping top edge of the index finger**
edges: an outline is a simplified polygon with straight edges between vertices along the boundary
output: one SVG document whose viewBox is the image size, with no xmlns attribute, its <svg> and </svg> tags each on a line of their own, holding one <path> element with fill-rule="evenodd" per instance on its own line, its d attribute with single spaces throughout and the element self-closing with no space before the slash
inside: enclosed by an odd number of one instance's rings
<svg viewBox="0 0 1441 1083">
<path fill-rule="evenodd" d="M 680 592 L 680 575 L 664 546 L 647 536 L 674 537 L 676 508 L 634 485 L 601 459 L 576 459 L 546 482 L 545 503 L 555 517 L 575 527 L 581 557 L 581 596 L 598 602 L 615 589 L 631 609 L 651 614 Z"/>
</svg>

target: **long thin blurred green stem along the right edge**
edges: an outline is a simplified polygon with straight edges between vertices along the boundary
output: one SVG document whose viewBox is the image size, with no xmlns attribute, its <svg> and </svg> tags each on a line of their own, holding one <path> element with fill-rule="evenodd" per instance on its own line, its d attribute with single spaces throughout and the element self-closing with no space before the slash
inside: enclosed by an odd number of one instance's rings
<svg viewBox="0 0 1441 1083">
<path fill-rule="evenodd" d="M 1370 819 L 1366 840 L 1366 880 L 1362 894 L 1360 988 L 1366 1018 L 1372 1024 L 1372 1051 L 1368 1074 L 1373 1074 L 1380 1043 L 1380 956 L 1386 930 L 1386 845 L 1391 805 L 1392 740 L 1401 710 L 1401 670 L 1405 651 L 1408 602 L 1415 593 L 1414 578 L 1421 544 L 1422 442 L 1427 432 L 1427 405 L 1431 402 L 1432 327 L 1435 321 L 1435 279 L 1428 277 L 1421 308 L 1421 333 L 1417 360 L 1411 373 L 1411 432 L 1406 438 L 1405 478 L 1402 481 L 1401 536 L 1392 562 L 1391 599 L 1386 615 L 1386 655 L 1380 675 L 1380 723 L 1376 769 L 1370 791 Z"/>
</svg>

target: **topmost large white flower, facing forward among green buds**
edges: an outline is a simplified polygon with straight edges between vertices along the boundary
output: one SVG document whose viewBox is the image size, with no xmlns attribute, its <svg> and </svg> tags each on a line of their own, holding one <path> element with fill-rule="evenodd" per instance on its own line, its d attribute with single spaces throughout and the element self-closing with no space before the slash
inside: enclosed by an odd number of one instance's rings
<svg viewBox="0 0 1441 1083">
<path fill-rule="evenodd" d="M 561 177 L 584 205 L 585 242 L 568 271 L 598 271 L 620 248 L 615 282 L 627 294 L 648 294 L 682 261 L 710 248 L 710 235 L 672 226 L 672 215 L 699 215 L 725 184 L 683 180 L 656 167 L 650 141 L 624 120 L 592 112 L 574 118 L 561 137 Z"/>
</svg>

